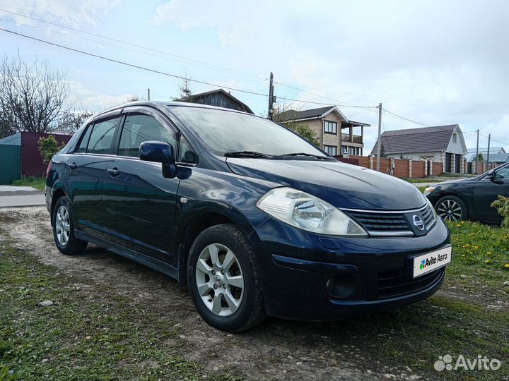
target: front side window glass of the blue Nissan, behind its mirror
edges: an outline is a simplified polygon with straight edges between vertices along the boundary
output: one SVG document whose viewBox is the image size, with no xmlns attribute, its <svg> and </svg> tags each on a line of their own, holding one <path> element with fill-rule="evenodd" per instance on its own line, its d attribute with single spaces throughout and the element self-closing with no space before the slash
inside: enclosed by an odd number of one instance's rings
<svg viewBox="0 0 509 381">
<path fill-rule="evenodd" d="M 139 146 L 156 140 L 177 147 L 175 133 L 168 131 L 157 119 L 144 114 L 128 114 L 120 135 L 119 156 L 139 157 Z"/>
</svg>

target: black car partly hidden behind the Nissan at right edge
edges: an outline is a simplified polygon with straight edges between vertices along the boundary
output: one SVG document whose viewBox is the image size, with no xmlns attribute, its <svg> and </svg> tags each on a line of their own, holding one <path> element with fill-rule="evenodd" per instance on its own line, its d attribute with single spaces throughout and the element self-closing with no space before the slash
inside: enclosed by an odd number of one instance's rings
<svg viewBox="0 0 509 381">
<path fill-rule="evenodd" d="M 509 163 L 480 176 L 435 184 L 426 188 L 424 195 L 443 219 L 500 224 L 502 217 L 491 202 L 498 195 L 509 195 Z"/>
</svg>

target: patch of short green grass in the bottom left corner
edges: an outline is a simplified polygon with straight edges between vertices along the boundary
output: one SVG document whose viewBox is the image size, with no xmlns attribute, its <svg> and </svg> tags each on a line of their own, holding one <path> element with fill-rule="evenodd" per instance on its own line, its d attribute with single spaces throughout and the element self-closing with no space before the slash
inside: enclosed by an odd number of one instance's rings
<svg viewBox="0 0 509 381">
<path fill-rule="evenodd" d="M 233 380 L 186 360 L 175 322 L 107 285 L 85 292 L 13 248 L 0 249 L 0 274 L 0 381 Z"/>
</svg>

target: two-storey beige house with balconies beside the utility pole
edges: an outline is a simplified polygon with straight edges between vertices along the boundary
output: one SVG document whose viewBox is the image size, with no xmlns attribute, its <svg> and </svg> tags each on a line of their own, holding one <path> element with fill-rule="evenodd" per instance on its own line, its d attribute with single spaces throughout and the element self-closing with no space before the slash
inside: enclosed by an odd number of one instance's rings
<svg viewBox="0 0 509 381">
<path fill-rule="evenodd" d="M 288 110 L 274 115 L 279 123 L 296 122 L 309 126 L 322 150 L 332 156 L 363 155 L 364 127 L 368 123 L 351 121 L 336 106 L 309 110 Z"/>
</svg>

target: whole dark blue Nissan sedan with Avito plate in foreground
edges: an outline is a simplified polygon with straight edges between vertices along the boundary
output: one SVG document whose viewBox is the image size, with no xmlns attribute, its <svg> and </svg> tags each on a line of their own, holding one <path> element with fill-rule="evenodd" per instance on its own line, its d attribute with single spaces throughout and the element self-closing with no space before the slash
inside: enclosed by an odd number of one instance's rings
<svg viewBox="0 0 509 381">
<path fill-rule="evenodd" d="M 95 116 L 49 164 L 46 202 L 62 253 L 90 242 L 175 277 L 231 332 L 420 301 L 451 258 L 447 227 L 411 184 L 196 104 Z"/>
</svg>

